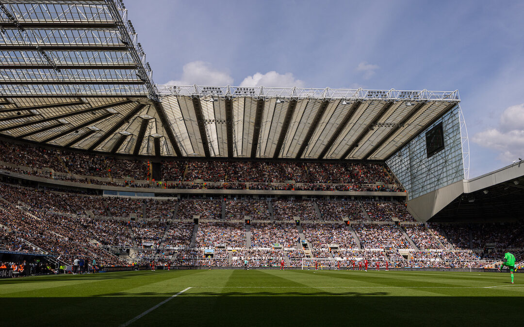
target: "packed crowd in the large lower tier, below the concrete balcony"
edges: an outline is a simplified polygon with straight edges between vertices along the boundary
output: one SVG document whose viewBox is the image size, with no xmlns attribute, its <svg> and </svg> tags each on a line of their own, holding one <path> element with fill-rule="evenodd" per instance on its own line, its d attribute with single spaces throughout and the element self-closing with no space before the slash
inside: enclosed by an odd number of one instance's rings
<svg viewBox="0 0 524 327">
<path fill-rule="evenodd" d="M 166 232 L 166 218 L 172 217 L 177 202 L 157 199 L 129 199 L 117 197 L 99 197 L 75 193 L 62 193 L 53 190 L 35 190 L 1 184 L 0 196 L 6 201 L 0 202 L 0 224 L 12 229 L 0 233 L 0 247 L 4 250 L 18 252 L 48 252 L 60 255 L 64 260 L 73 256 L 96 257 L 104 265 L 123 264 L 116 256 L 104 250 L 100 245 L 120 247 L 133 246 L 132 234 L 138 246 L 154 245 L 158 247 Z M 352 227 L 340 222 L 333 222 L 340 215 L 351 212 L 358 215 L 359 204 L 353 201 L 318 201 L 322 214 L 318 222 L 315 202 L 312 200 L 294 200 L 273 202 L 277 222 L 252 223 L 251 245 L 255 248 L 272 249 L 275 243 L 285 248 L 298 249 L 298 231 L 294 222 L 281 223 L 281 220 L 292 221 L 298 216 L 302 220 L 304 236 L 313 247 L 313 256 L 330 255 L 329 244 L 336 244 L 341 250 L 354 249 L 356 240 L 354 229 L 364 249 L 389 249 L 390 260 L 399 265 L 410 266 L 454 266 L 469 267 L 472 261 L 475 266 L 480 261 L 495 261 L 503 256 L 506 248 L 522 248 L 522 225 L 518 223 L 485 223 L 485 224 L 423 224 L 403 222 L 401 227 L 392 222 L 381 223 L 383 217 L 392 215 L 408 220 L 403 204 L 397 202 L 365 202 L 370 217 L 379 217 L 379 222 L 352 221 Z M 191 218 L 186 221 L 171 222 L 165 246 L 188 247 L 193 231 L 193 215 L 202 220 L 221 218 L 221 200 L 182 200 L 179 202 L 178 218 Z M 226 247 L 246 247 L 244 216 L 253 220 L 268 220 L 268 202 L 265 200 L 230 200 L 225 201 L 227 220 L 240 220 L 238 223 L 217 223 L 201 221 L 196 247 L 215 247 L 223 244 Z M 336 205 L 343 209 L 338 209 Z M 374 206 L 378 204 L 379 206 Z M 386 209 L 384 209 L 386 208 Z M 114 217 L 136 213 L 141 217 L 146 209 L 148 221 L 118 221 L 107 218 L 92 219 L 83 215 L 92 210 L 96 215 Z M 341 213 L 346 212 L 346 213 Z M 360 211 L 363 215 L 363 211 Z M 389 213 L 388 213 L 389 212 Z M 77 214 L 82 214 L 77 216 Z M 155 221 L 149 221 L 149 216 Z M 122 216 L 121 216 L 122 217 Z M 309 219 L 308 219 L 309 217 Z M 332 218 L 330 218 L 332 217 Z M 363 216 L 361 216 L 363 217 Z M 399 218 L 399 220 L 401 219 Z M 342 220 L 342 219 L 340 219 Z M 309 222 L 308 222 L 309 221 Z M 411 243 L 402 234 L 404 229 L 409 239 L 418 247 L 411 251 L 411 256 L 403 257 L 396 249 L 409 249 Z M 131 233 L 132 231 L 132 233 Z M 485 250 L 486 244 L 496 247 Z M 136 244 L 135 244 L 136 245 Z M 452 252 L 452 245 L 457 251 Z M 475 252 L 466 251 L 472 245 Z M 484 249 L 484 251 L 482 250 Z M 491 249 L 491 248 L 489 248 Z M 428 251 L 438 250 L 438 251 Z M 170 257 L 175 250 L 158 254 Z M 267 250 L 272 251 L 272 250 Z M 300 251 L 300 250 L 295 250 Z M 483 254 L 484 253 L 484 254 Z M 148 252 L 148 255 L 151 254 Z M 299 256 L 300 257 L 300 256 Z M 216 257 L 216 260 L 218 256 Z"/>
</svg>

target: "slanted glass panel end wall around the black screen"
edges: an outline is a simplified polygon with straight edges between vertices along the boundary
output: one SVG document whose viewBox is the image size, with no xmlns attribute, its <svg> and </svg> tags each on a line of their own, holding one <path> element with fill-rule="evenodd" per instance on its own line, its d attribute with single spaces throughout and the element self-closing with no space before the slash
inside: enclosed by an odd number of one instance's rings
<svg viewBox="0 0 524 327">
<path fill-rule="evenodd" d="M 444 149 L 428 158 L 426 132 L 442 122 Z M 459 107 L 418 134 L 386 163 L 408 191 L 410 199 L 464 179 Z"/>
</svg>

